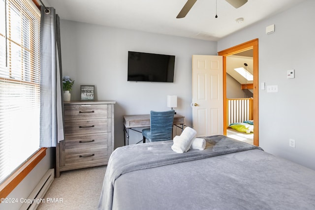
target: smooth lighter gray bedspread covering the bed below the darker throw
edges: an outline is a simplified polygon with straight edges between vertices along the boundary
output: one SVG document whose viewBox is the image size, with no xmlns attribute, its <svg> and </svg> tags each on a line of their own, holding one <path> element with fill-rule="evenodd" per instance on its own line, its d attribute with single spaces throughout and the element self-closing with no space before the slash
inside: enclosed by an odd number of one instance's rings
<svg viewBox="0 0 315 210">
<path fill-rule="evenodd" d="M 315 210 L 315 171 L 262 150 L 132 171 L 113 210 Z"/>
</svg>

